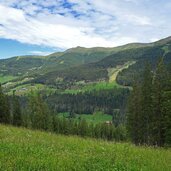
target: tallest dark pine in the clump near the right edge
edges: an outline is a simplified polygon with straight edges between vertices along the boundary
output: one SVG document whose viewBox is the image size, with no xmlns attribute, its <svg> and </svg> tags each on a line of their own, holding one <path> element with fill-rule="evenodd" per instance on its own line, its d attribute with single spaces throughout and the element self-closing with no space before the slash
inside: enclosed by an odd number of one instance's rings
<svg viewBox="0 0 171 171">
<path fill-rule="evenodd" d="M 168 74 L 164 66 L 163 58 L 160 59 L 153 82 L 153 144 L 164 145 L 165 139 L 165 112 L 163 110 L 164 91 L 167 87 Z"/>
</svg>

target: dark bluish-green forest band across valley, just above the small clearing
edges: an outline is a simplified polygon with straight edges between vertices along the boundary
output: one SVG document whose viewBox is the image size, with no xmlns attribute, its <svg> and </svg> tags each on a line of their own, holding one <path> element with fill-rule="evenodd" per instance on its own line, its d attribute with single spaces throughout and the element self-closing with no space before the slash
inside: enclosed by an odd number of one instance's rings
<svg viewBox="0 0 171 171">
<path fill-rule="evenodd" d="M 114 88 L 77 94 L 54 93 L 45 98 L 54 112 L 62 113 L 72 110 L 77 114 L 93 114 L 95 111 L 103 111 L 112 115 L 114 109 L 121 109 L 124 113 L 129 95 L 128 88 Z"/>
</svg>

